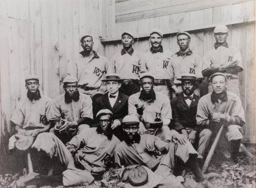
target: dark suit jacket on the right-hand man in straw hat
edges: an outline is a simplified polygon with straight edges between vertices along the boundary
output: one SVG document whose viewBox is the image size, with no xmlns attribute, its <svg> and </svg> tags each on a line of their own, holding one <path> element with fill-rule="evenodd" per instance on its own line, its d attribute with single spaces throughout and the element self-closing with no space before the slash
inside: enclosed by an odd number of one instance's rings
<svg viewBox="0 0 256 188">
<path fill-rule="evenodd" d="M 184 99 L 183 93 L 170 100 L 173 112 L 172 128 L 177 131 L 180 131 L 183 128 L 193 128 L 194 130 L 199 128 L 196 120 L 199 99 L 200 97 L 194 94 L 194 98 L 189 106 Z"/>
</svg>

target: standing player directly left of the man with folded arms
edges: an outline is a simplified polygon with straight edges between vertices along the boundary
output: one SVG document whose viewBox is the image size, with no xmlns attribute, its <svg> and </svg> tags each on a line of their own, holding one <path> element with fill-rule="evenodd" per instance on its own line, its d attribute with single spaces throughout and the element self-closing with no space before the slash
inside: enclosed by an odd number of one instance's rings
<svg viewBox="0 0 256 188">
<path fill-rule="evenodd" d="M 197 85 L 199 85 L 200 81 L 203 79 L 202 59 L 196 53 L 192 52 L 192 50 L 189 48 L 190 41 L 191 37 L 188 32 L 177 33 L 177 43 L 180 50 L 177 51 L 172 57 L 172 66 L 174 69 L 174 83 L 179 89 L 179 92 L 182 90 L 182 85 L 181 81 L 177 78 L 181 78 L 182 74 L 196 74 L 197 78 L 200 79 L 197 81 Z M 196 95 L 200 96 L 200 91 L 198 87 L 195 88 L 194 92 Z M 175 93 L 173 97 L 175 97 Z"/>
</svg>

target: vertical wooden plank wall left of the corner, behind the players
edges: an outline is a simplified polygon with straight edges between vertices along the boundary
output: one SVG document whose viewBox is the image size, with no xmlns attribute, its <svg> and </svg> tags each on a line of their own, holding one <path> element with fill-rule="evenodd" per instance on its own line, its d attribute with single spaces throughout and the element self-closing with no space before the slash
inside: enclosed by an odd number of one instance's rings
<svg viewBox="0 0 256 188">
<path fill-rule="evenodd" d="M 42 93 L 59 95 L 82 36 L 91 34 L 103 53 L 101 19 L 102 0 L 0 1 L 0 172 L 7 168 L 10 118 L 26 97 L 25 76 L 37 74 Z"/>
</svg>

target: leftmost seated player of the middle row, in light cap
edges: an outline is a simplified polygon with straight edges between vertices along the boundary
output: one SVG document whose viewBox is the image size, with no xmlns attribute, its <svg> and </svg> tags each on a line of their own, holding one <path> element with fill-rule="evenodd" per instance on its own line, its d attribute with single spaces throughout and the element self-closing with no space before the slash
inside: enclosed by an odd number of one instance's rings
<svg viewBox="0 0 256 188">
<path fill-rule="evenodd" d="M 48 115 L 52 99 L 40 94 L 39 78 L 36 75 L 25 78 L 25 87 L 28 90 L 27 97 L 17 105 L 11 118 L 16 134 L 9 139 L 9 151 L 15 157 L 13 167 L 18 171 L 26 164 L 26 155 L 17 152 L 15 142 L 24 136 L 36 138 L 39 133 L 50 129 Z"/>
</svg>

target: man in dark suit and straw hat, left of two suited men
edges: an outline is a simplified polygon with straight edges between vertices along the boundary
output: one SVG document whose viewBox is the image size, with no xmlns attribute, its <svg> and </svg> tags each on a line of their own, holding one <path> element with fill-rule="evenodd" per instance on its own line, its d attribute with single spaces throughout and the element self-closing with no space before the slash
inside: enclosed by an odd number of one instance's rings
<svg viewBox="0 0 256 188">
<path fill-rule="evenodd" d="M 120 125 L 124 116 L 128 115 L 129 96 L 119 91 L 122 79 L 118 74 L 107 74 L 106 79 L 101 81 L 106 82 L 106 89 L 108 90 L 108 93 L 105 93 L 93 100 L 94 119 L 96 119 L 95 116 L 101 109 L 109 109 L 113 113 L 111 127 L 114 130 L 114 135 L 122 141 L 123 131 Z"/>
</svg>

